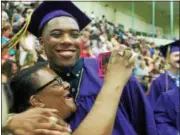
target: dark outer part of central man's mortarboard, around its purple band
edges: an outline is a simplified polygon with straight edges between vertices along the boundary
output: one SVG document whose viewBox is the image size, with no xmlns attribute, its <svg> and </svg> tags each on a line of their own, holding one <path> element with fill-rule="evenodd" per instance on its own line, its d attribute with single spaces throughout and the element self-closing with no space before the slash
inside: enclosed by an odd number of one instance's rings
<svg viewBox="0 0 180 135">
<path fill-rule="evenodd" d="M 28 27 L 28 31 L 39 37 L 40 35 L 40 25 L 44 17 L 46 17 L 49 13 L 62 10 L 72 16 L 77 21 L 80 30 L 86 27 L 91 20 L 88 16 L 86 16 L 76 5 L 74 5 L 71 1 L 44 1 L 42 2 L 37 9 L 32 14 L 31 21 Z M 52 14 L 51 14 L 52 16 Z M 63 16 L 63 15 L 61 15 Z M 57 17 L 57 16 L 56 16 Z M 46 17 L 47 18 L 47 17 Z M 51 18 L 52 19 L 52 18 Z M 49 20 L 51 20 L 49 19 Z M 49 21 L 46 20 L 46 21 Z"/>
</svg>

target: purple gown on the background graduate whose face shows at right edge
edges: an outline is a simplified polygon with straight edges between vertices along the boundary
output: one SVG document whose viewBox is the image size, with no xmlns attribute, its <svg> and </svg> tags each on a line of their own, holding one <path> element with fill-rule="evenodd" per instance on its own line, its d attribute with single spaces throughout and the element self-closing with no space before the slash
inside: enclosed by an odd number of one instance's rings
<svg viewBox="0 0 180 135">
<path fill-rule="evenodd" d="M 168 88 L 166 84 L 166 78 L 168 78 Z M 156 102 L 159 96 L 163 93 L 166 92 L 167 90 L 172 90 L 174 88 L 177 88 L 174 80 L 167 75 L 167 72 L 161 74 L 158 78 L 156 78 L 150 87 L 150 92 L 148 94 L 148 99 L 150 101 L 150 104 L 153 109 L 156 108 Z"/>
</svg>

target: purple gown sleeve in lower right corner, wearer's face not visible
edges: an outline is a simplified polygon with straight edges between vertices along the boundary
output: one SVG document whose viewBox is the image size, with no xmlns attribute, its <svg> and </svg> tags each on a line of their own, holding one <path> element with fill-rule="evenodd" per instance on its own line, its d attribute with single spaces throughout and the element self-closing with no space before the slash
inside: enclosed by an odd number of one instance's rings
<svg viewBox="0 0 180 135">
<path fill-rule="evenodd" d="M 180 109 L 180 91 L 178 89 L 163 93 L 154 110 L 158 135 L 177 135 Z"/>
</svg>

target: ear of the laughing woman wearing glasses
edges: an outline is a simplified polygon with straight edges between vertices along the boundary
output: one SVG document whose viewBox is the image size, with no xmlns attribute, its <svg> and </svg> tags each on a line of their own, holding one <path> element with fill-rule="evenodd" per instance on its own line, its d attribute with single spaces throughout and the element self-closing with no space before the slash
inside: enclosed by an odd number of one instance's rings
<svg viewBox="0 0 180 135">
<path fill-rule="evenodd" d="M 29 102 L 34 107 L 45 107 L 43 100 L 37 95 L 32 95 Z"/>
</svg>

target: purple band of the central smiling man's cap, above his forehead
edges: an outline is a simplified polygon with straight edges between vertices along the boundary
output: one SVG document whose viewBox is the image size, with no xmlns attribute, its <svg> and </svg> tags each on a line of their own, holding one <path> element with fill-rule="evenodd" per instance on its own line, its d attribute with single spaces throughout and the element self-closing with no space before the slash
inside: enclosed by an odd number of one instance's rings
<svg viewBox="0 0 180 135">
<path fill-rule="evenodd" d="M 48 22 L 49 20 L 51 20 L 52 18 L 55 18 L 55 17 L 60 17 L 60 16 L 69 16 L 69 17 L 72 17 L 74 18 L 71 14 L 69 14 L 68 12 L 65 12 L 63 10 L 55 10 L 55 11 L 52 11 L 50 12 L 49 14 L 47 14 L 46 16 L 44 16 L 44 18 L 42 19 L 40 25 L 39 25 L 39 30 L 41 30 L 44 26 L 44 24 L 46 22 Z M 75 19 L 76 20 L 76 19 Z"/>
</svg>

